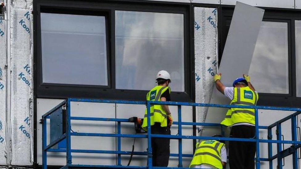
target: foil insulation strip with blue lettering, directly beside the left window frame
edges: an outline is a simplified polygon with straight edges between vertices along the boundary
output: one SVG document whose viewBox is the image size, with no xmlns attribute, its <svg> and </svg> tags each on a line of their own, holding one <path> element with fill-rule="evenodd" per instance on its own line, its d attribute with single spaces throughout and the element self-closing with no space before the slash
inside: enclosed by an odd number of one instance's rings
<svg viewBox="0 0 301 169">
<path fill-rule="evenodd" d="M 11 9 L 11 165 L 19 166 L 33 162 L 31 23 L 31 10 Z"/>
</svg>

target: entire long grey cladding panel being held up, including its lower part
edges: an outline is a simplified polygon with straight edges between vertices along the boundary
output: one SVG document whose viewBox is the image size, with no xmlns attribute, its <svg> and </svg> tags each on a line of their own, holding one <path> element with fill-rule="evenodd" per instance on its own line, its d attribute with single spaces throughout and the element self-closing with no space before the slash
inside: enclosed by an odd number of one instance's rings
<svg viewBox="0 0 301 169">
<path fill-rule="evenodd" d="M 253 57 L 257 35 L 261 26 L 264 10 L 237 2 L 231 21 L 219 73 L 225 86 L 232 86 L 235 78 L 247 74 Z M 229 104 L 226 98 L 215 87 L 210 103 Z M 226 108 L 209 107 L 206 123 L 221 123 L 225 118 Z M 202 135 L 210 136 L 221 130 L 205 127 Z"/>
</svg>

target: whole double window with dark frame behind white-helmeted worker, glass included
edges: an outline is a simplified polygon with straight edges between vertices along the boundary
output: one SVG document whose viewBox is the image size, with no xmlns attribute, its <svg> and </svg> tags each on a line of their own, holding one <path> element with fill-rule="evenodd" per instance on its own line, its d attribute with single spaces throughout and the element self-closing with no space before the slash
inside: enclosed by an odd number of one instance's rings
<svg viewBox="0 0 301 169">
<path fill-rule="evenodd" d="M 192 100 L 188 6 L 75 0 L 37 4 L 37 97 L 145 100 L 157 85 L 158 71 L 167 70 L 172 101 Z"/>
</svg>

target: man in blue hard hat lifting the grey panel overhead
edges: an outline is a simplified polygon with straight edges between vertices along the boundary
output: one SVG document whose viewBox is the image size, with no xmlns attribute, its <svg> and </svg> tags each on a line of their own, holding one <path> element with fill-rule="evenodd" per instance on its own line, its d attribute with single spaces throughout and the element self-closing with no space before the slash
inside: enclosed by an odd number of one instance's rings
<svg viewBox="0 0 301 169">
<path fill-rule="evenodd" d="M 216 88 L 231 102 L 230 105 L 254 106 L 258 101 L 258 93 L 250 82 L 250 77 L 243 74 L 237 78 L 233 87 L 225 87 L 221 82 L 221 73 L 214 75 Z M 245 108 L 229 108 L 221 124 L 231 127 L 230 137 L 255 137 L 255 110 Z M 254 169 L 255 142 L 229 142 L 229 166 L 231 169 Z"/>
</svg>

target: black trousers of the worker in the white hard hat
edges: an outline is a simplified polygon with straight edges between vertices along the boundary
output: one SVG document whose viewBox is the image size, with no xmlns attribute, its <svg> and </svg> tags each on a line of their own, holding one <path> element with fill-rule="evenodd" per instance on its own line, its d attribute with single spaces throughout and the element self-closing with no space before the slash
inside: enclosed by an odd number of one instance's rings
<svg viewBox="0 0 301 169">
<path fill-rule="evenodd" d="M 170 135 L 170 127 L 161 127 L 160 123 L 155 123 L 150 128 L 151 134 Z M 167 167 L 170 148 L 170 139 L 152 138 L 151 147 L 153 152 L 152 165 L 156 167 Z"/>
</svg>

